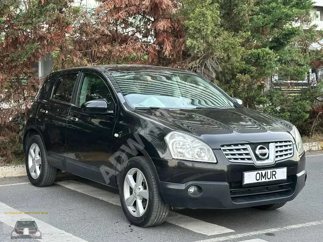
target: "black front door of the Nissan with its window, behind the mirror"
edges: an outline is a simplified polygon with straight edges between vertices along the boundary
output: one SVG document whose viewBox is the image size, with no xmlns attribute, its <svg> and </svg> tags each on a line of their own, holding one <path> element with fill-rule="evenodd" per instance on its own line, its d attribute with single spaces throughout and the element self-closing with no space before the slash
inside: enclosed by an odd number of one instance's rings
<svg viewBox="0 0 323 242">
<path fill-rule="evenodd" d="M 67 120 L 67 156 L 73 173 L 105 184 L 100 167 L 111 168 L 109 158 L 113 142 L 116 110 L 107 114 L 87 114 L 81 104 L 93 99 L 104 99 L 116 107 L 104 76 L 96 72 L 83 73 L 75 104 Z M 78 162 L 75 162 L 78 161 Z M 112 185 L 113 184 L 108 184 Z"/>
</svg>

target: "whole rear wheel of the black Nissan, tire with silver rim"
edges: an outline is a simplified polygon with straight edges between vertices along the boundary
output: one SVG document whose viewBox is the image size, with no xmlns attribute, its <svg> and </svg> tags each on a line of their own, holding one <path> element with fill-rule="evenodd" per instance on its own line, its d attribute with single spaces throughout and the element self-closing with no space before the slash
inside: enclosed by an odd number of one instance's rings
<svg viewBox="0 0 323 242">
<path fill-rule="evenodd" d="M 39 153 L 37 152 L 37 147 L 39 148 Z M 32 149 L 34 148 L 34 150 Z M 30 162 L 29 159 L 30 157 L 32 158 L 32 155 L 29 154 L 29 151 L 31 153 L 35 154 L 40 154 L 37 159 L 37 155 L 35 155 L 35 159 L 32 159 L 31 162 L 37 162 L 34 163 L 36 164 L 35 166 L 38 167 L 39 172 L 31 172 L 29 167 Z M 26 145 L 26 154 L 25 154 L 25 162 L 26 162 L 26 171 L 27 171 L 27 176 L 29 178 L 29 181 L 31 184 L 34 186 L 50 186 L 54 183 L 56 175 L 57 175 L 57 168 L 51 166 L 48 161 L 47 161 L 47 155 L 46 155 L 46 150 L 45 146 L 43 144 L 43 141 L 39 135 L 34 135 L 28 140 L 28 144 Z"/>
</svg>

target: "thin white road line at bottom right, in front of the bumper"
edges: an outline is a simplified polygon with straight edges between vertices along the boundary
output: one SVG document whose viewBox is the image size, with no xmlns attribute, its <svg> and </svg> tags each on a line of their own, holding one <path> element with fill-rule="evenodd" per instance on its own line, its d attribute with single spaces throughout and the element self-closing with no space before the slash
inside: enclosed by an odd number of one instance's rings
<svg viewBox="0 0 323 242">
<path fill-rule="evenodd" d="M 267 229 L 267 230 L 259 230 L 259 231 L 253 231 L 253 232 L 248 232 L 248 233 L 243 233 L 243 234 L 218 237 L 218 238 L 207 239 L 207 240 L 197 241 L 197 242 L 231 241 L 231 240 L 236 240 L 236 239 L 249 237 L 249 236 L 258 236 L 258 235 L 263 235 L 263 234 L 266 234 L 266 233 L 275 233 L 275 232 L 280 232 L 280 231 L 285 231 L 285 230 L 293 230 L 293 229 L 299 229 L 299 228 L 303 228 L 303 227 L 312 227 L 312 226 L 317 226 L 317 225 L 323 225 L 323 220 L 315 221 L 315 222 L 309 222 L 309 223 L 305 223 L 305 224 L 289 225 L 289 226 L 284 226 L 284 227 L 279 227 L 279 228 L 273 228 L 273 229 Z"/>
</svg>

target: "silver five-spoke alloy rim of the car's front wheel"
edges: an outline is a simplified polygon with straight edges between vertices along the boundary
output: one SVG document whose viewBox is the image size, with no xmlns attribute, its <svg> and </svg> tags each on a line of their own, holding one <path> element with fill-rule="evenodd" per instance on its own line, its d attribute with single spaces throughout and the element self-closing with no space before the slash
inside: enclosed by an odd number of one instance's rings
<svg viewBox="0 0 323 242">
<path fill-rule="evenodd" d="M 126 206 L 134 217 L 141 217 L 148 208 L 148 185 L 146 177 L 138 168 L 131 168 L 123 184 Z"/>
</svg>

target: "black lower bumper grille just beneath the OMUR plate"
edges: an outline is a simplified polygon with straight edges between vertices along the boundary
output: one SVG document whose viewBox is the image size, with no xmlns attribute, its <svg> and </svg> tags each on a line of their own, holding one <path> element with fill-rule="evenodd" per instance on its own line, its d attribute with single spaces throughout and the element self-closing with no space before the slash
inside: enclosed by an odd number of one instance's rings
<svg viewBox="0 0 323 242">
<path fill-rule="evenodd" d="M 287 181 L 278 181 L 275 184 L 265 184 L 251 187 L 243 187 L 242 182 L 230 182 L 231 199 L 235 203 L 246 202 L 246 199 L 259 200 L 270 198 L 279 198 L 293 193 L 295 190 L 295 182 L 293 176 L 288 176 Z"/>
</svg>

